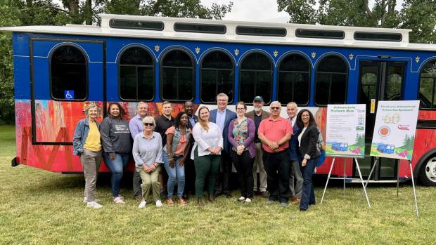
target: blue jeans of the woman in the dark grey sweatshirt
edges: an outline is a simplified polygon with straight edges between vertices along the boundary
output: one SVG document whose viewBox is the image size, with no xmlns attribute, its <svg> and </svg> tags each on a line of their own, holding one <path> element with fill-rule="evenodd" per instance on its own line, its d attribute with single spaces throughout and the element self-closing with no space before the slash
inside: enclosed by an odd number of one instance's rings
<svg viewBox="0 0 436 245">
<path fill-rule="evenodd" d="M 112 185 L 113 197 L 120 196 L 120 186 L 122 180 L 122 171 L 129 163 L 129 154 L 115 154 L 115 160 L 111 161 L 109 153 L 104 154 L 105 164 L 108 166 L 112 176 L 110 178 L 110 184 Z"/>
</svg>

